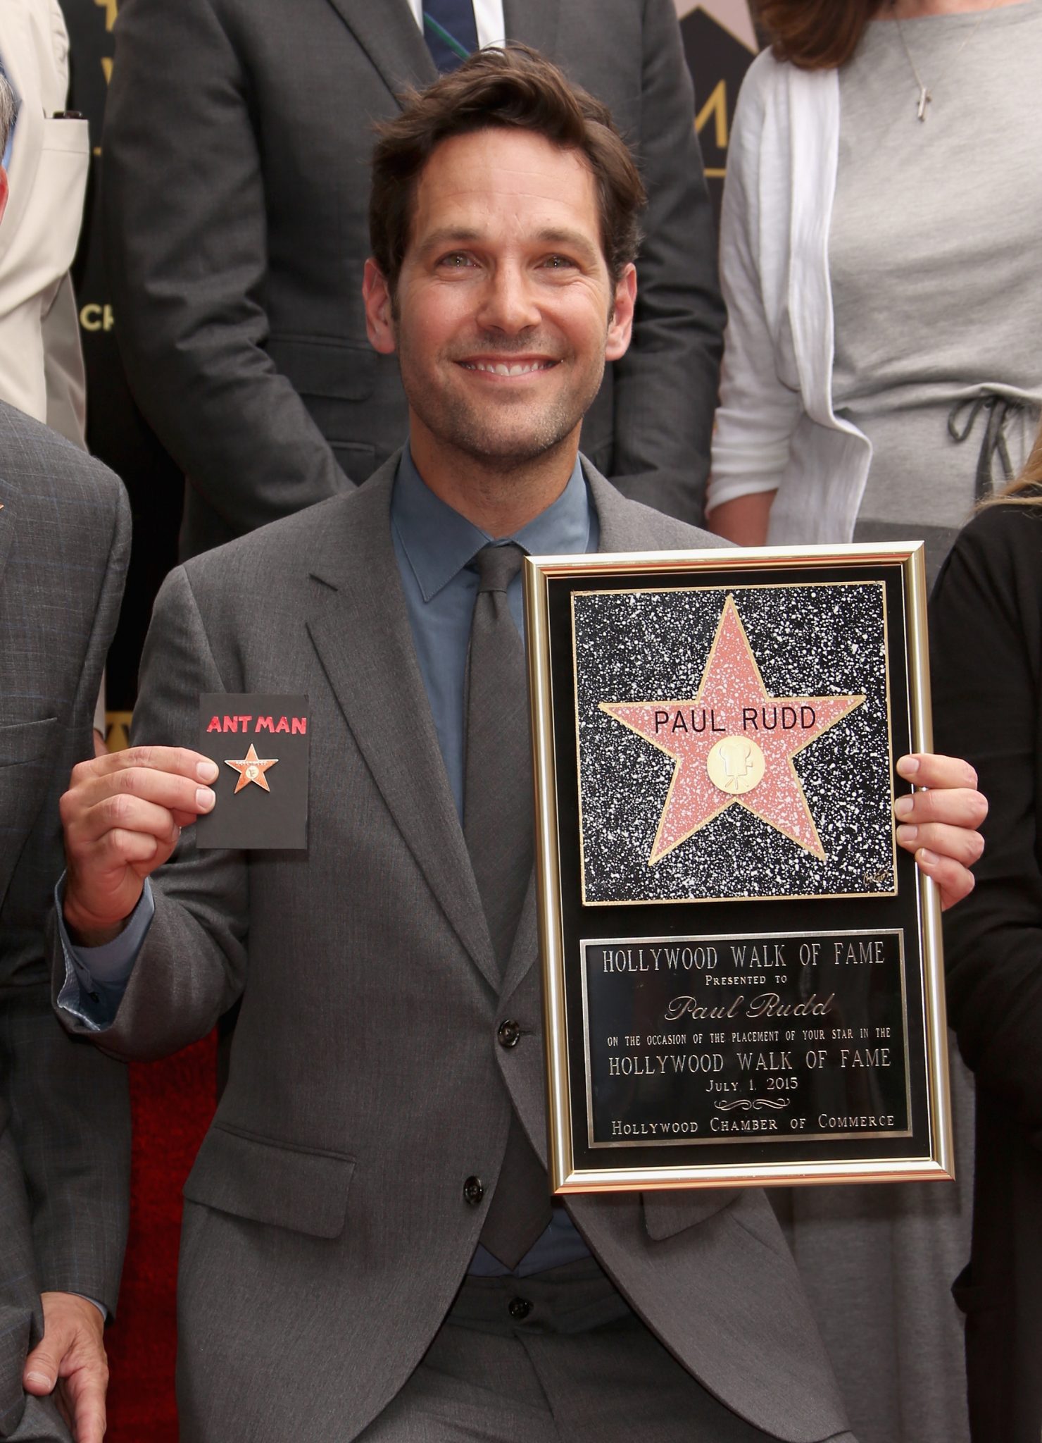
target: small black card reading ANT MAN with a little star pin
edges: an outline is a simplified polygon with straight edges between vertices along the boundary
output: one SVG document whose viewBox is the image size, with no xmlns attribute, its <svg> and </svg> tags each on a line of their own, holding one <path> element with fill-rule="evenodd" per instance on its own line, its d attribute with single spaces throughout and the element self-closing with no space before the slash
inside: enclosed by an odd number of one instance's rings
<svg viewBox="0 0 1042 1443">
<path fill-rule="evenodd" d="M 259 691 L 199 697 L 199 750 L 219 773 L 197 847 L 307 847 L 307 697 Z"/>
</svg>

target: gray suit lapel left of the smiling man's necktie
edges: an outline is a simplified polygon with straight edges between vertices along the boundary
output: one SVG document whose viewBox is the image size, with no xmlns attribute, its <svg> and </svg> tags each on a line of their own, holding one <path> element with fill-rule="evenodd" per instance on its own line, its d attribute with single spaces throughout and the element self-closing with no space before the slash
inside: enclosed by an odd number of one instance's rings
<svg viewBox="0 0 1042 1443">
<path fill-rule="evenodd" d="M 445 916 L 499 968 L 412 645 L 391 540 L 392 457 L 352 496 L 311 571 L 307 629 L 359 750 Z"/>
</svg>

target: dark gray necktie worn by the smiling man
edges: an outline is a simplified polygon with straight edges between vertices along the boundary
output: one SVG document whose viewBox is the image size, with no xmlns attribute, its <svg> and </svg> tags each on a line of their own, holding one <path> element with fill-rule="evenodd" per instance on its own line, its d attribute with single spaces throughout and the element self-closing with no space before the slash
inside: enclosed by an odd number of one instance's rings
<svg viewBox="0 0 1042 1443">
<path fill-rule="evenodd" d="M 525 648 L 506 595 L 522 556 L 520 547 L 509 543 L 486 545 L 474 557 L 478 589 L 467 659 L 463 831 L 500 975 L 506 973 L 532 873 Z M 546 1170 L 513 1114 L 481 1242 L 513 1268 L 549 1221 Z"/>
</svg>

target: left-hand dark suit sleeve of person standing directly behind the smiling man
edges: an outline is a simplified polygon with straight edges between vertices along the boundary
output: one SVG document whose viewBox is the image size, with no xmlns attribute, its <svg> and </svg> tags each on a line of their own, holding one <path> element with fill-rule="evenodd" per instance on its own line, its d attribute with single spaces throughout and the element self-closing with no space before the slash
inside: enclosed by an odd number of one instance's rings
<svg viewBox="0 0 1042 1443">
<path fill-rule="evenodd" d="M 265 351 L 249 76 L 210 0 L 120 7 L 102 154 L 117 335 L 177 465 L 235 532 L 349 486 Z"/>
</svg>

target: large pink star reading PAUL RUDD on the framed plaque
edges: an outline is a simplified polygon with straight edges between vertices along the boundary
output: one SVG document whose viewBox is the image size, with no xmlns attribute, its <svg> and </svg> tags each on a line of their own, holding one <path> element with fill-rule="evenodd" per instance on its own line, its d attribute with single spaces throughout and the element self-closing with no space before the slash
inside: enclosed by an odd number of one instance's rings
<svg viewBox="0 0 1042 1443">
<path fill-rule="evenodd" d="M 824 861 L 793 758 L 863 700 L 770 696 L 728 596 L 695 697 L 600 703 L 674 760 L 649 866 L 735 805 Z"/>
</svg>

